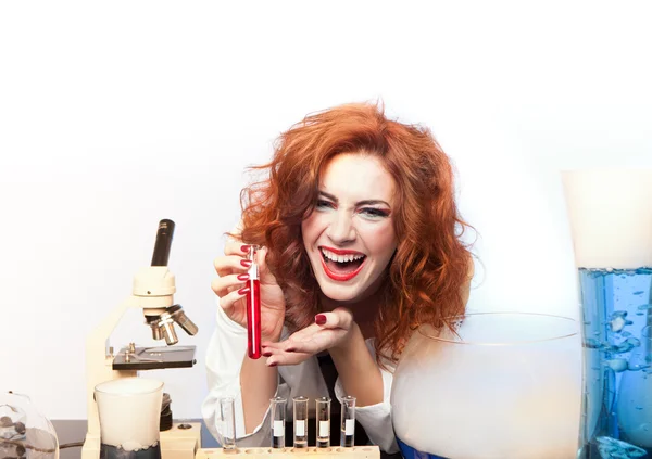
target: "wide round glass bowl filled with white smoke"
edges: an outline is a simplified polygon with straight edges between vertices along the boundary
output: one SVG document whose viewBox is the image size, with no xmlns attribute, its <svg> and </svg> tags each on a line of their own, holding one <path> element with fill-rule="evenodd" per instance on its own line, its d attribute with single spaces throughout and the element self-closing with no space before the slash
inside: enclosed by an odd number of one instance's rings
<svg viewBox="0 0 652 459">
<path fill-rule="evenodd" d="M 574 458 L 581 350 L 577 321 L 477 313 L 417 329 L 391 392 L 403 457 Z"/>
</svg>

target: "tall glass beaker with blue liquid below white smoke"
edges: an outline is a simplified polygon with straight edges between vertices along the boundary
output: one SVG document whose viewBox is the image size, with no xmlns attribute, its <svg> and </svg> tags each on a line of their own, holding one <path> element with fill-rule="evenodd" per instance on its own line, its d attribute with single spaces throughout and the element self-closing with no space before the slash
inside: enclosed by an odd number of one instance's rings
<svg viewBox="0 0 652 459">
<path fill-rule="evenodd" d="M 652 169 L 563 182 L 582 316 L 578 458 L 652 458 Z"/>
</svg>

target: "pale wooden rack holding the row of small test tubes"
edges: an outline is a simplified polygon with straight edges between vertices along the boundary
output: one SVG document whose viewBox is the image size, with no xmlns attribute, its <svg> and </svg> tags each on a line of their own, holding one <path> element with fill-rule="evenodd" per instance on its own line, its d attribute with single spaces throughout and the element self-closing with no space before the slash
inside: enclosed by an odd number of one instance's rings
<svg viewBox="0 0 652 459">
<path fill-rule="evenodd" d="M 378 446 L 353 446 L 343 448 L 331 446 L 329 448 L 236 448 L 236 449 L 199 449 L 195 459 L 249 459 L 249 458 L 277 458 L 277 459 L 380 459 Z"/>
</svg>

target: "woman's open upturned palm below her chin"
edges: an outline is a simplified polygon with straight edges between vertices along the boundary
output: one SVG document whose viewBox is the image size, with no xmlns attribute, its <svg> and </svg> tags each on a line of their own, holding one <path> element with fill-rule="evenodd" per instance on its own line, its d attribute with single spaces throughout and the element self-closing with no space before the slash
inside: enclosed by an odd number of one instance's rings
<svg viewBox="0 0 652 459">
<path fill-rule="evenodd" d="M 323 350 L 346 347 L 358 329 L 349 309 L 339 307 L 315 316 L 315 323 L 279 343 L 263 342 L 268 366 L 297 365 Z"/>
</svg>

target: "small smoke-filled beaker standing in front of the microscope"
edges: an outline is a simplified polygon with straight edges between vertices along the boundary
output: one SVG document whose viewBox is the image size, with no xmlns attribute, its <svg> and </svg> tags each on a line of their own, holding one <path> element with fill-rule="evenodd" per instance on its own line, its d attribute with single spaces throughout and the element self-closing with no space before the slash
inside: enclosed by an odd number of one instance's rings
<svg viewBox="0 0 652 459">
<path fill-rule="evenodd" d="M 95 398 L 100 418 L 100 459 L 161 459 L 161 381 L 106 381 L 95 387 Z"/>
</svg>

